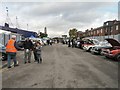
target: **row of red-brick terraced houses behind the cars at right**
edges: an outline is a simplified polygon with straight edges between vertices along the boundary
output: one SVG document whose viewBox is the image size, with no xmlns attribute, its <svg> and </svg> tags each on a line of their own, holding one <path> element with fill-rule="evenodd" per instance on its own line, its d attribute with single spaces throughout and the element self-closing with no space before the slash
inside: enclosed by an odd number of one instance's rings
<svg viewBox="0 0 120 90">
<path fill-rule="evenodd" d="M 120 41 L 120 21 L 113 20 L 113 21 L 106 21 L 103 23 L 103 26 L 97 28 L 91 28 L 85 30 L 85 32 L 78 31 L 77 33 L 79 38 L 85 37 L 107 37 L 107 38 L 116 38 Z"/>
</svg>

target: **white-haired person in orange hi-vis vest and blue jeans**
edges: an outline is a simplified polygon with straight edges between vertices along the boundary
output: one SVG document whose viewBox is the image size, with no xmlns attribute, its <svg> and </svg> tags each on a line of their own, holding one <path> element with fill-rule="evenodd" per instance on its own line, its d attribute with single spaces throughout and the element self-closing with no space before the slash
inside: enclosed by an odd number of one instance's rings
<svg viewBox="0 0 120 90">
<path fill-rule="evenodd" d="M 6 44 L 8 68 L 11 68 L 11 59 L 13 59 L 13 61 L 14 61 L 14 67 L 18 66 L 17 60 L 16 60 L 17 49 L 21 49 L 21 48 L 16 43 L 16 36 L 12 35 L 11 39 L 8 40 L 8 42 Z"/>
</svg>

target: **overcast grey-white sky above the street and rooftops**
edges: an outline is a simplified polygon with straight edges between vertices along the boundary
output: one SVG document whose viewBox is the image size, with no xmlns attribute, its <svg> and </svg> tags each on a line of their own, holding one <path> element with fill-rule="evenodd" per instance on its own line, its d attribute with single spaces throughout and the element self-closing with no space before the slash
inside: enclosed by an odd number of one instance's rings
<svg viewBox="0 0 120 90">
<path fill-rule="evenodd" d="M 118 19 L 117 2 L 4 2 L 0 4 L 0 25 L 6 21 L 6 7 L 16 27 L 16 16 L 21 29 L 43 32 L 47 27 L 50 37 L 96 28 L 108 20 Z M 10 25 L 12 27 L 12 25 Z"/>
</svg>

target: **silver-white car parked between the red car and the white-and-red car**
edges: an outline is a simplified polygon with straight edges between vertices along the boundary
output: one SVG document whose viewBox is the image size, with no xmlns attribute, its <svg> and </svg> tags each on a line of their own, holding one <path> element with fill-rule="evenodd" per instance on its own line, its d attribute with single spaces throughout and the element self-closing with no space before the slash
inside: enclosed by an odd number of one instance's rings
<svg viewBox="0 0 120 90">
<path fill-rule="evenodd" d="M 100 42 L 99 45 L 94 45 L 91 49 L 91 53 L 101 55 L 103 48 L 106 49 L 110 47 L 112 47 L 112 45 L 105 40 L 105 41 Z"/>
</svg>

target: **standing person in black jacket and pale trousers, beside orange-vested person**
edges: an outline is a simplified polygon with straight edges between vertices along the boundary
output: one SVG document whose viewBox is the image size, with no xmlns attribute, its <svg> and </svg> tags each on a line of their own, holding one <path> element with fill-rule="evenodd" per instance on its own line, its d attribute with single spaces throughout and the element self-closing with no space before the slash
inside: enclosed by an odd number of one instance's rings
<svg viewBox="0 0 120 90">
<path fill-rule="evenodd" d="M 28 63 L 31 63 L 31 53 L 33 50 L 33 43 L 29 38 L 26 38 L 24 44 L 24 63 L 26 64 L 27 61 Z"/>
</svg>

